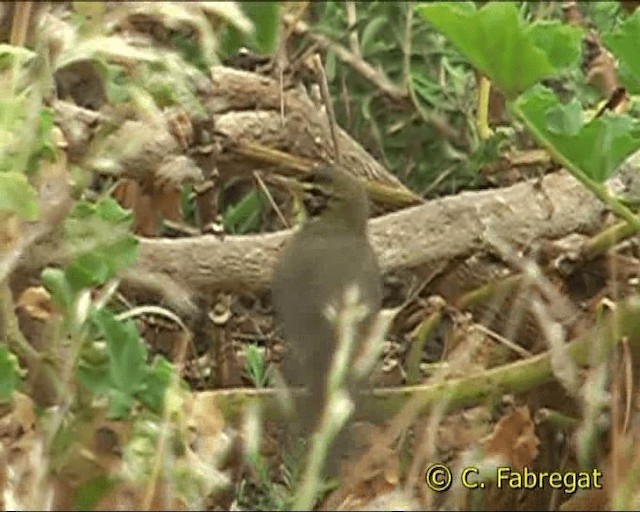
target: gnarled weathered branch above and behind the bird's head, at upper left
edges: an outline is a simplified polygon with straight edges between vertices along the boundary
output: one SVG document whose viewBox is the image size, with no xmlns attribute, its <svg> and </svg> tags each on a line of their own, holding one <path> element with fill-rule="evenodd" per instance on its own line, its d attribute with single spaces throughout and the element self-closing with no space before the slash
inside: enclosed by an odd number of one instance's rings
<svg viewBox="0 0 640 512">
<path fill-rule="evenodd" d="M 251 175 L 254 170 L 273 167 L 272 162 L 248 157 L 237 150 L 246 145 L 259 145 L 314 162 L 334 160 L 327 116 L 313 103 L 304 87 L 282 90 L 279 82 L 270 77 L 224 66 L 211 69 L 211 83 L 207 85 L 201 87 L 201 99 L 207 115 L 213 120 L 210 124 L 215 125 L 215 132 L 211 133 L 211 128 L 207 128 L 205 145 L 217 150 L 214 159 L 198 161 L 204 176 L 210 174 L 212 165 L 222 177 Z M 281 105 L 284 105 L 284 117 Z M 119 122 L 107 114 L 97 116 L 64 101 L 56 101 L 54 108 L 57 124 L 67 137 L 70 158 L 81 164 L 88 158 L 84 164 L 96 171 L 152 182 L 158 166 L 167 158 L 185 151 L 187 154 L 198 153 L 203 149 L 186 148 L 185 144 L 190 146 L 192 137 L 187 137 L 185 143 L 176 136 L 176 130 L 172 129 L 176 124 L 172 111 L 158 119 Z M 200 123 L 201 120 L 180 120 L 182 125 L 190 122 Z M 98 123 L 117 125 L 118 128 L 87 154 L 90 141 L 98 131 L 95 127 Z M 189 131 L 192 127 L 186 126 L 186 129 Z M 402 194 L 400 204 L 420 202 L 418 196 L 346 131 L 338 127 L 336 136 L 341 164 L 346 169 L 367 181 L 393 187 Z M 286 163 L 279 162 L 280 166 L 286 166 Z"/>
</svg>

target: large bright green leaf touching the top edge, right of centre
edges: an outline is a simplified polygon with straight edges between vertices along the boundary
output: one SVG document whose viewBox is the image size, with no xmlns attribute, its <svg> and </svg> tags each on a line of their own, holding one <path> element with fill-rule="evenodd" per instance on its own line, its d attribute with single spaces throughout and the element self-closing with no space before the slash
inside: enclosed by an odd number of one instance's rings
<svg viewBox="0 0 640 512">
<path fill-rule="evenodd" d="M 485 74 L 507 98 L 556 73 L 547 54 L 534 44 L 514 2 L 432 2 L 417 8 L 422 17 Z"/>
</svg>

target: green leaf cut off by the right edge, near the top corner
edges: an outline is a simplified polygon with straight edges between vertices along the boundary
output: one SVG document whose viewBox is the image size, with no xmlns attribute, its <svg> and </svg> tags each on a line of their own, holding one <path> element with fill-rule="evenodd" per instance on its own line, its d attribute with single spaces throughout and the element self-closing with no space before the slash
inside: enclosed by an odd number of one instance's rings
<svg viewBox="0 0 640 512">
<path fill-rule="evenodd" d="M 629 16 L 617 30 L 602 36 L 602 42 L 619 62 L 622 84 L 633 94 L 640 93 L 640 9 Z"/>
</svg>

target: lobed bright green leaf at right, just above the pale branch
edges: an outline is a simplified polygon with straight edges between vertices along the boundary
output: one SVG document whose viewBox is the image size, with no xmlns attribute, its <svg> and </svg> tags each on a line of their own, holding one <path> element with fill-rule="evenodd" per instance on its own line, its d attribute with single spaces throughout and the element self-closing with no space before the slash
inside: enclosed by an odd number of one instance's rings
<svg viewBox="0 0 640 512">
<path fill-rule="evenodd" d="M 598 182 L 606 180 L 627 156 L 640 149 L 637 120 L 607 112 L 575 132 L 575 105 L 561 105 L 553 92 L 542 86 L 520 96 L 515 108 L 538 142 Z M 559 118 L 569 120 L 566 130 L 558 123 Z"/>
</svg>

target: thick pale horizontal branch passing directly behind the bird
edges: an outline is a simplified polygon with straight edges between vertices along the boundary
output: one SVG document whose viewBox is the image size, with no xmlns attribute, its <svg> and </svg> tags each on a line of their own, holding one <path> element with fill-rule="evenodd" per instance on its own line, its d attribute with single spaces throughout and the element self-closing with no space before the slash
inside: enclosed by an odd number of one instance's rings
<svg viewBox="0 0 640 512">
<path fill-rule="evenodd" d="M 486 234 L 526 247 L 541 239 L 590 231 L 603 206 L 577 181 L 554 174 L 499 190 L 465 192 L 395 212 L 370 222 L 384 272 L 469 255 L 490 248 Z M 137 273 L 160 273 L 188 290 L 258 291 L 291 231 L 224 239 L 143 239 Z"/>
</svg>

